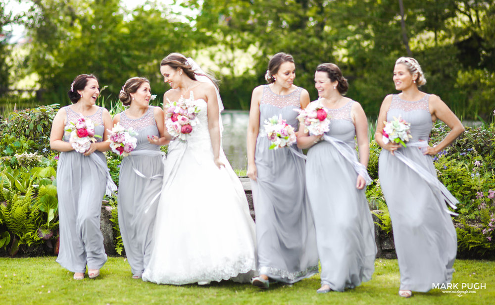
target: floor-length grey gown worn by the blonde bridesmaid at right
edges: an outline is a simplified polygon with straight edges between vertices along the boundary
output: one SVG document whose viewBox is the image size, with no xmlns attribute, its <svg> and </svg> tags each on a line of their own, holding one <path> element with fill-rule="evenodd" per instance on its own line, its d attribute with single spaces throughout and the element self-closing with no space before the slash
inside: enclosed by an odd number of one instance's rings
<svg viewBox="0 0 495 305">
<path fill-rule="evenodd" d="M 430 95 L 425 95 L 419 101 L 408 102 L 393 95 L 387 121 L 400 116 L 411 124 L 412 139 L 396 154 L 409 158 L 414 167 L 436 179 L 432 156 L 424 155 L 414 146 L 429 139 L 432 129 L 429 98 Z M 433 284 L 449 283 L 457 236 L 445 197 L 389 151 L 382 150 L 378 164 L 380 184 L 392 219 L 400 289 L 427 292 Z"/>
</svg>

